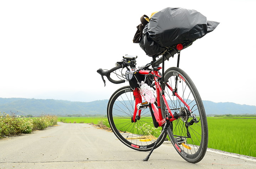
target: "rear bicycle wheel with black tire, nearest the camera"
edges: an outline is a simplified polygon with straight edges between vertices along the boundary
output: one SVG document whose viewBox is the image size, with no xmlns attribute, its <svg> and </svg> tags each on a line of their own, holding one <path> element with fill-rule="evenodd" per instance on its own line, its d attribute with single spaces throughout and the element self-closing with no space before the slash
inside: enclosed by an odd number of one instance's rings
<svg viewBox="0 0 256 169">
<path fill-rule="evenodd" d="M 169 84 L 172 89 L 175 89 L 176 77 L 178 77 L 176 92 L 190 106 L 192 112 L 189 112 L 185 103 L 181 102 L 166 86 Z M 208 125 L 202 99 L 193 81 L 180 68 L 171 67 L 167 69 L 164 81 L 168 106 L 172 113 L 180 113 L 180 118 L 176 117 L 177 119 L 171 122 L 167 133 L 175 150 L 183 159 L 190 163 L 198 163 L 206 154 L 208 145 Z M 163 116 L 168 113 L 165 106 L 161 97 Z M 196 114 L 193 115 L 196 119 L 192 114 Z"/>
</svg>

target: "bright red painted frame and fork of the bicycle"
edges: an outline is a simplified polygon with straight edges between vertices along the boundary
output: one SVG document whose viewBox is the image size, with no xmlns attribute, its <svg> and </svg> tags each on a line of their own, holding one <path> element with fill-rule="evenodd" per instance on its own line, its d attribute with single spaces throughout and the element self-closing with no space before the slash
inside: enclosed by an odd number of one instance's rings
<svg viewBox="0 0 256 169">
<path fill-rule="evenodd" d="M 160 70 L 160 69 L 161 69 L 161 67 L 159 67 L 158 70 Z M 164 101 L 165 105 L 168 105 L 168 103 L 167 103 L 167 100 L 165 98 L 164 92 L 162 91 L 161 85 L 160 85 L 160 83 L 158 81 L 158 78 L 160 78 L 161 76 L 159 75 L 158 71 L 139 71 L 139 74 L 142 74 L 142 75 L 148 75 L 150 73 L 152 73 L 154 75 L 155 89 L 156 89 L 156 101 L 157 101 L 157 106 L 155 105 L 155 103 L 151 103 L 151 108 L 153 110 L 154 117 L 156 119 L 156 122 L 158 123 L 158 126 L 163 126 L 166 123 L 166 120 L 169 120 L 170 122 L 172 122 L 172 121 L 176 120 L 176 118 L 174 118 L 174 115 L 172 114 L 172 110 L 170 109 L 169 106 L 167 106 L 167 111 L 170 113 L 169 117 L 171 117 L 171 118 L 168 118 L 168 117 L 165 117 L 164 119 L 162 118 L 162 110 L 161 110 L 160 97 L 163 98 L 163 101 Z M 182 80 L 185 81 L 185 79 L 183 77 L 181 77 L 180 75 L 178 75 L 178 76 Z M 174 89 L 172 89 L 170 85 L 166 84 L 166 86 L 172 92 L 174 91 Z M 188 111 L 191 112 L 190 106 L 187 105 L 187 103 L 182 99 L 182 97 L 179 96 L 177 94 L 177 92 L 174 92 L 174 94 L 187 107 Z M 140 95 L 140 91 L 139 91 L 138 88 L 135 88 L 133 90 L 133 96 L 135 98 L 135 105 L 138 105 L 139 103 L 142 103 L 142 96 Z M 138 110 L 137 106 L 135 106 L 133 117 L 132 117 L 133 122 L 136 121 L 136 118 L 138 118 L 138 117 L 140 118 L 141 111 L 142 110 Z M 137 113 L 138 113 L 138 115 L 137 115 Z"/>
</svg>

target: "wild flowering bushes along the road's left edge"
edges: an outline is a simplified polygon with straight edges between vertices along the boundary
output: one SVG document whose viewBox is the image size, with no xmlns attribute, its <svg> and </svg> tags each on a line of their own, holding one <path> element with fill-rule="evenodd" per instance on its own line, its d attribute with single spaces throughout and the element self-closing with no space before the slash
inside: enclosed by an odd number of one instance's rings
<svg viewBox="0 0 256 169">
<path fill-rule="evenodd" d="M 11 116 L 0 113 L 0 138 L 19 134 L 28 134 L 35 130 L 43 130 L 48 126 L 57 124 L 57 116 L 41 116 L 34 118 L 21 118 L 14 114 Z"/>
</svg>

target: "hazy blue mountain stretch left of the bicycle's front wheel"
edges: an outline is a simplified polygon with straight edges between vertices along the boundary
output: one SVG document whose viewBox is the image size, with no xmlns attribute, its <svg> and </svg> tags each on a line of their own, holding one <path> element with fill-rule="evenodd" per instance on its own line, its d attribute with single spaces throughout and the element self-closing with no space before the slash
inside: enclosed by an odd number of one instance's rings
<svg viewBox="0 0 256 169">
<path fill-rule="evenodd" d="M 106 114 L 108 100 L 71 102 L 53 99 L 0 98 L 0 112 L 17 115 Z"/>
</svg>

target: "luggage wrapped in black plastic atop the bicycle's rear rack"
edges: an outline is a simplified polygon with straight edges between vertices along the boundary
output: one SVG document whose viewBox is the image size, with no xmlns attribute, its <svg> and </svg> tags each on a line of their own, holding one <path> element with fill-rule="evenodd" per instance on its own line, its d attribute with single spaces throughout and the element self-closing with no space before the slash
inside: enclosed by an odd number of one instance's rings
<svg viewBox="0 0 256 169">
<path fill-rule="evenodd" d="M 196 10 L 167 7 L 151 18 L 143 15 L 133 43 L 139 43 L 146 55 L 159 55 L 166 48 L 182 44 L 185 49 L 193 41 L 212 32 L 219 22 L 207 21 Z"/>
</svg>

